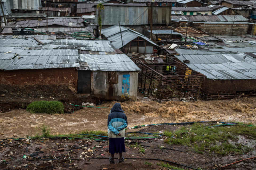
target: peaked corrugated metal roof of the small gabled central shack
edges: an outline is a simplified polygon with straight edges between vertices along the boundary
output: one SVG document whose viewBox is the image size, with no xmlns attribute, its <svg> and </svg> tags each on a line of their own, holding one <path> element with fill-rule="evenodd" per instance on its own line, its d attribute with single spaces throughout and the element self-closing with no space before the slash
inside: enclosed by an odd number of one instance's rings
<svg viewBox="0 0 256 170">
<path fill-rule="evenodd" d="M 137 37 L 141 37 L 142 39 L 148 41 L 149 43 L 153 44 L 154 46 L 158 46 L 155 44 L 153 41 L 151 41 L 148 37 L 142 35 L 141 33 L 138 33 L 132 29 L 121 27 L 121 32 L 122 32 L 122 39 L 124 41 L 123 45 L 126 45 L 130 41 L 134 40 Z M 120 33 L 120 28 L 119 25 L 113 25 L 108 28 L 104 28 L 101 30 L 101 33 L 111 42 L 111 44 L 119 49 L 122 47 L 122 40 L 121 40 L 121 33 Z"/>
</svg>

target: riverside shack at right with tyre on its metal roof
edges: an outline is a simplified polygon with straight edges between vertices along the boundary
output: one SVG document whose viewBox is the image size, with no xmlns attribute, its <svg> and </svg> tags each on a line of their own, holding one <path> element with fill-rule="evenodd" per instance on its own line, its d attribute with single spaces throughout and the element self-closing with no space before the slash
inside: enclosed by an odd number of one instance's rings
<svg viewBox="0 0 256 170">
<path fill-rule="evenodd" d="M 208 41 L 207 49 L 200 45 L 197 48 L 201 49 L 175 49 L 180 54 L 174 55 L 179 61 L 205 76 L 202 98 L 256 96 L 256 39 L 250 35 L 213 36 L 219 41 Z"/>
</svg>

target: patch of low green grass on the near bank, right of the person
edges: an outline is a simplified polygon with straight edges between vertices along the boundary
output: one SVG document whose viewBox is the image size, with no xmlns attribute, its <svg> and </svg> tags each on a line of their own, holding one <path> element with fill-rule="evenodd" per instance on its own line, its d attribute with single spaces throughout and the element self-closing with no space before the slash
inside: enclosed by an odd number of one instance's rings
<svg viewBox="0 0 256 170">
<path fill-rule="evenodd" d="M 256 129 L 253 126 L 233 125 L 208 128 L 212 125 L 193 124 L 182 126 L 176 131 L 165 131 L 169 138 L 165 140 L 170 145 L 192 146 L 194 151 L 202 154 L 207 151 L 219 155 L 226 155 L 229 152 L 238 154 L 248 152 L 251 148 L 242 145 L 233 145 L 238 135 L 246 135 L 249 138 L 256 137 Z M 231 142 L 233 141 L 233 142 Z"/>
</svg>

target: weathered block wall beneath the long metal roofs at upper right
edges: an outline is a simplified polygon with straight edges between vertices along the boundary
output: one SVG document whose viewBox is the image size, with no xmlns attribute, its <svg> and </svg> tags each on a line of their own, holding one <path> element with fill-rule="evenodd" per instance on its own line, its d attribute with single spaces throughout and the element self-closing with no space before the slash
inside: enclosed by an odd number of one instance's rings
<svg viewBox="0 0 256 170">
<path fill-rule="evenodd" d="M 193 27 L 202 29 L 203 31 L 211 34 L 221 34 L 221 35 L 244 35 L 247 32 L 248 24 L 203 24 L 203 23 L 193 23 Z"/>
</svg>

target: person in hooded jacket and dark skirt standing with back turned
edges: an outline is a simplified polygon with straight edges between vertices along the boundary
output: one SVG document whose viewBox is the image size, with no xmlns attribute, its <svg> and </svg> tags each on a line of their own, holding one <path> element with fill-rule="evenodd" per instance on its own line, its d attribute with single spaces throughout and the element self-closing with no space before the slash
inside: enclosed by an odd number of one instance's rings
<svg viewBox="0 0 256 170">
<path fill-rule="evenodd" d="M 115 103 L 107 118 L 107 133 L 109 136 L 109 158 L 110 163 L 114 164 L 114 154 L 119 153 L 119 163 L 125 159 L 122 153 L 125 152 L 125 128 L 127 127 L 127 117 L 121 108 L 120 103 Z"/>
</svg>

